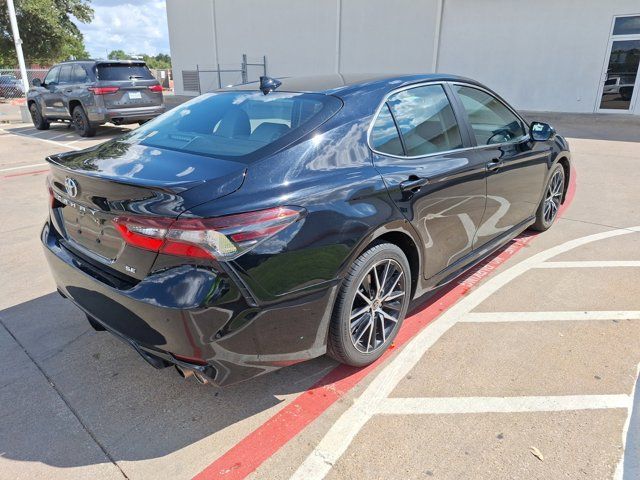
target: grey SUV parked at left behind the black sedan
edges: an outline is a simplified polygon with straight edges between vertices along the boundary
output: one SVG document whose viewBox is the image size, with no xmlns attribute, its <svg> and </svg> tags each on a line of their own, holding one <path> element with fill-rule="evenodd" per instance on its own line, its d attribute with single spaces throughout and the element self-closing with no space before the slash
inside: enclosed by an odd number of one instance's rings
<svg viewBox="0 0 640 480">
<path fill-rule="evenodd" d="M 31 119 L 38 130 L 50 122 L 70 121 L 83 137 L 96 127 L 144 123 L 164 112 L 162 87 L 144 62 L 91 60 L 64 62 L 33 80 L 27 93 Z"/>
</svg>

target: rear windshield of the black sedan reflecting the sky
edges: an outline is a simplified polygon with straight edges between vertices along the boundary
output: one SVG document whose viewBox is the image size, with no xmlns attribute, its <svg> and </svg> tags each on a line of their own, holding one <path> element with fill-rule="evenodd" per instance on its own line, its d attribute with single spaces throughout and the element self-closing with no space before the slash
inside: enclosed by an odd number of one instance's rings
<svg viewBox="0 0 640 480">
<path fill-rule="evenodd" d="M 314 93 L 221 92 L 201 95 L 125 135 L 123 141 L 218 158 L 292 142 L 335 114 L 342 102 Z M 244 158 L 243 158 L 244 157 Z"/>
</svg>

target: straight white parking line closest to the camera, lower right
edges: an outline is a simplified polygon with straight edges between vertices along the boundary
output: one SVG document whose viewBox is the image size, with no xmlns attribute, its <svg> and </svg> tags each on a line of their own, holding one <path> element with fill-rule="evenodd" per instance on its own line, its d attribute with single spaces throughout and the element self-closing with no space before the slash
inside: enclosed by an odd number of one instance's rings
<svg viewBox="0 0 640 480">
<path fill-rule="evenodd" d="M 561 412 L 629 408 L 629 395 L 563 395 L 556 397 L 439 397 L 386 398 L 378 404 L 382 415 L 447 413 Z"/>
</svg>

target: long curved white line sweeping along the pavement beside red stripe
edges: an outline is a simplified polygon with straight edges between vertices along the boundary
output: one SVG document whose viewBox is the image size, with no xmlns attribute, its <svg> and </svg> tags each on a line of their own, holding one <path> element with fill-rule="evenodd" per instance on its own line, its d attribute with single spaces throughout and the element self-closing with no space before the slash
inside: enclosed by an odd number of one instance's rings
<svg viewBox="0 0 640 480">
<path fill-rule="evenodd" d="M 295 480 L 320 480 L 331 470 L 349 448 L 362 427 L 375 415 L 380 404 L 396 388 L 400 380 L 420 361 L 426 351 L 453 325 L 477 307 L 481 302 L 531 268 L 557 255 L 598 240 L 640 232 L 640 226 L 596 233 L 570 240 L 556 247 L 532 255 L 522 262 L 487 280 L 477 290 L 444 312 L 439 318 L 418 333 L 371 381 L 360 397 L 338 418 L 292 475 Z"/>
</svg>

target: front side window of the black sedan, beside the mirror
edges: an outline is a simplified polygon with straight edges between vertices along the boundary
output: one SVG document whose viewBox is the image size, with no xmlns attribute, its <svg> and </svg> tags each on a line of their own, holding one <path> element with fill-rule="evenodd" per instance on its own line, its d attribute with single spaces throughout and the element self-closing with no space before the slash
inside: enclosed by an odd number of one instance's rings
<svg viewBox="0 0 640 480">
<path fill-rule="evenodd" d="M 478 145 L 520 139 L 525 130 L 520 119 L 500 100 L 477 88 L 454 85 Z"/>
</svg>

